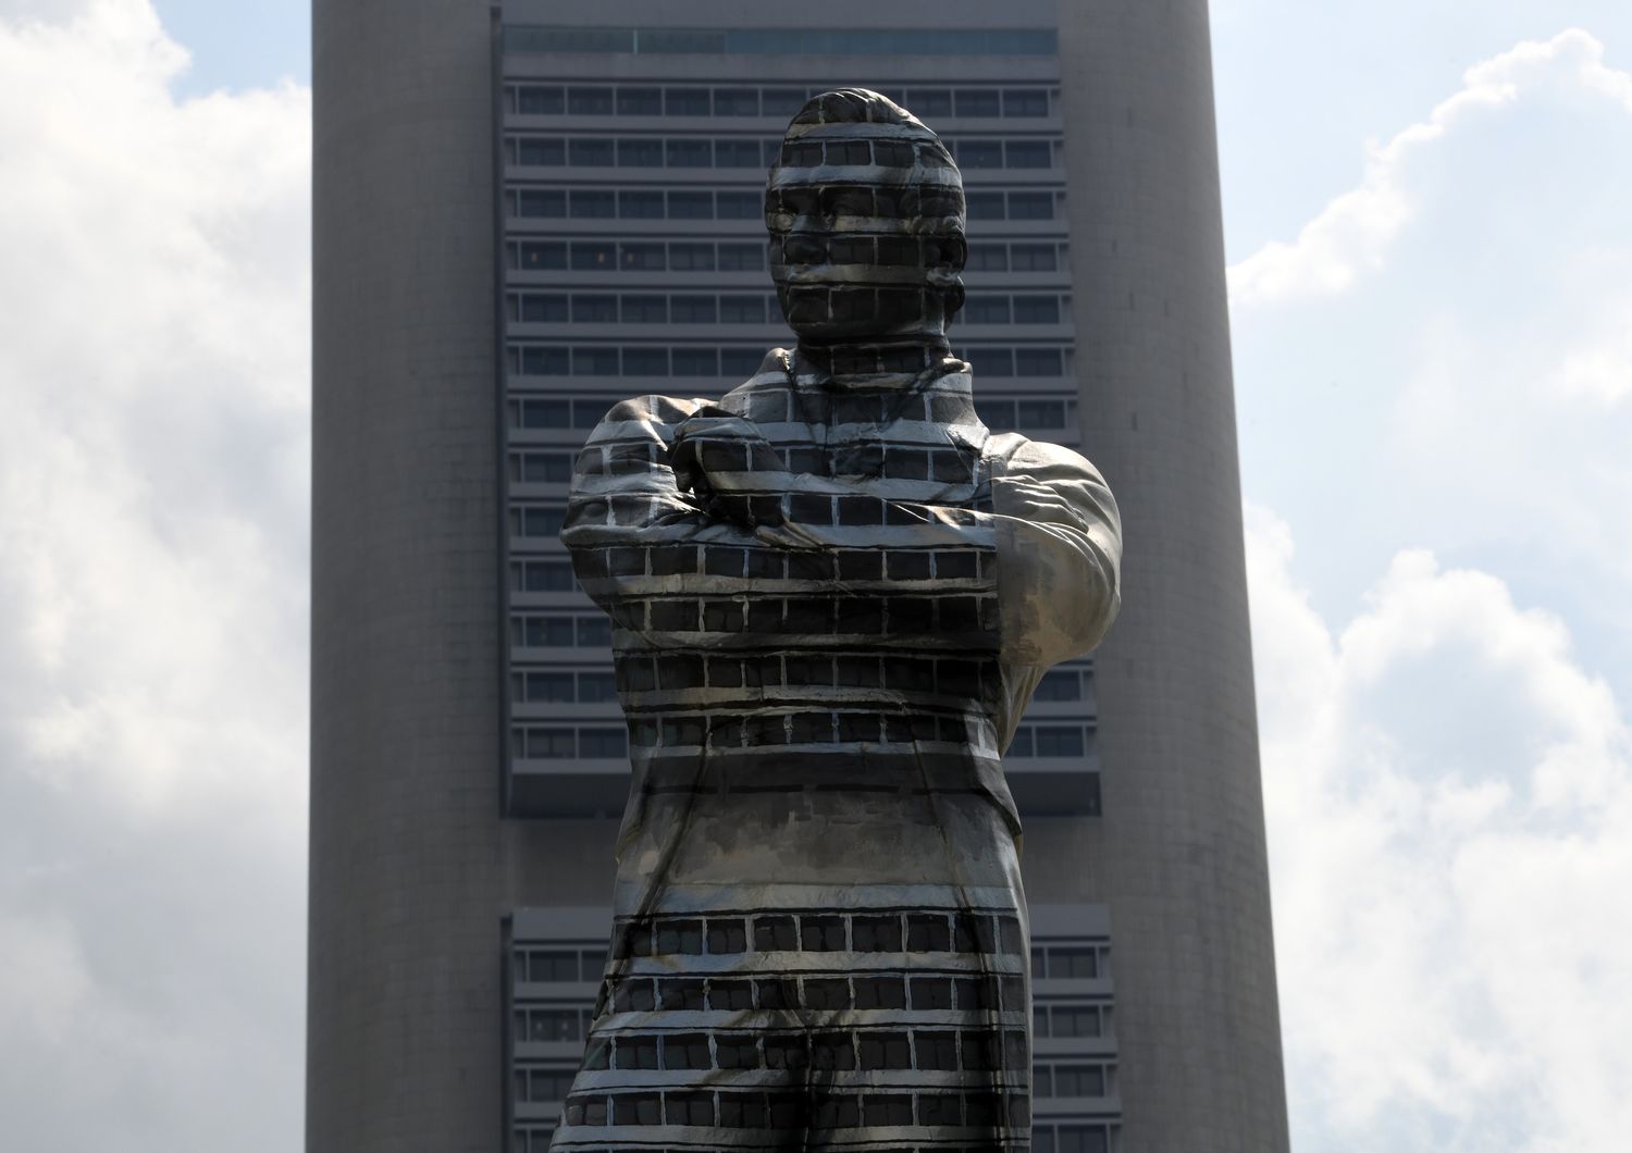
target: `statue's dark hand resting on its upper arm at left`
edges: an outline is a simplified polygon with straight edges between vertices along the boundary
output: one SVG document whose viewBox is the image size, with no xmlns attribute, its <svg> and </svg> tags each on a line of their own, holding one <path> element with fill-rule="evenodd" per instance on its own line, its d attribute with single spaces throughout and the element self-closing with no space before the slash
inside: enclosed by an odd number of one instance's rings
<svg viewBox="0 0 1632 1153">
<path fill-rule="evenodd" d="M 744 528 L 782 523 L 788 466 L 752 421 L 708 406 L 674 429 L 674 484 L 715 517 Z"/>
</svg>

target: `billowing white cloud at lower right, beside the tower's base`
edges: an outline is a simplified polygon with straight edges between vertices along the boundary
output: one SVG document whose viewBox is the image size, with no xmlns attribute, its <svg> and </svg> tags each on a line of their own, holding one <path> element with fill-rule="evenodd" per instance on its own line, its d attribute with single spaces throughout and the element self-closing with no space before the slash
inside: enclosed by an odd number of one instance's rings
<svg viewBox="0 0 1632 1153">
<path fill-rule="evenodd" d="M 1304 1148 L 1612 1150 L 1632 1129 L 1632 747 L 1552 615 L 1395 558 L 1330 628 L 1248 572 Z"/>
</svg>

